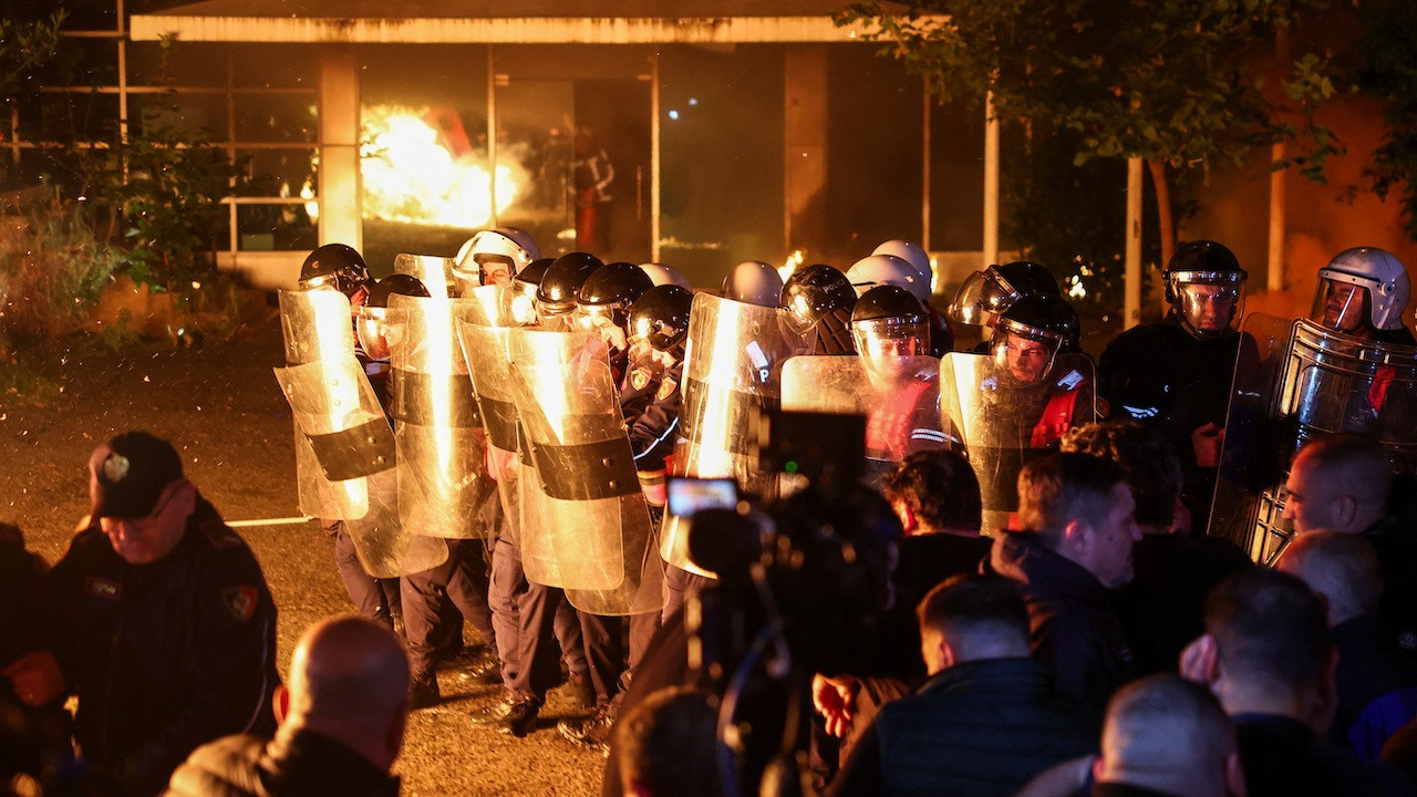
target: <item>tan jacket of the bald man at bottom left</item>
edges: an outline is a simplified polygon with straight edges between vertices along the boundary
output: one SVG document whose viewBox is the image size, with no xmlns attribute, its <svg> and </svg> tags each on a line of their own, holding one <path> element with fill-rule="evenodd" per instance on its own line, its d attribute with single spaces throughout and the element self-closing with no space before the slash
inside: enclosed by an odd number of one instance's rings
<svg viewBox="0 0 1417 797">
<path fill-rule="evenodd" d="M 167 797 L 393 797 L 398 777 L 310 730 L 275 740 L 237 735 L 197 747 Z"/>
</svg>

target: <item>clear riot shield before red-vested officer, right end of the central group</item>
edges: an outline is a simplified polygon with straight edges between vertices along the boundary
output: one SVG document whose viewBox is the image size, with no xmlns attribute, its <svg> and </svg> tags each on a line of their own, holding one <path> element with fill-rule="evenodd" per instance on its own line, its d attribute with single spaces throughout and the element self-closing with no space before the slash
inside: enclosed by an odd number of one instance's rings
<svg viewBox="0 0 1417 797">
<path fill-rule="evenodd" d="M 1061 355 L 1027 380 L 989 355 L 954 352 L 941 362 L 939 381 L 944 414 L 979 476 L 985 533 L 1017 528 L 1019 471 L 1097 417 L 1091 357 Z"/>
</svg>

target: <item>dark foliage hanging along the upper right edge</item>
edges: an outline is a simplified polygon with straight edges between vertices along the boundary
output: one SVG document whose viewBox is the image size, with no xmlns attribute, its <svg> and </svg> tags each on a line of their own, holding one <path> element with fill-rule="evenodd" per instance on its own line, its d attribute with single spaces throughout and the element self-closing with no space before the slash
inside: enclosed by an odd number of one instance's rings
<svg viewBox="0 0 1417 797">
<path fill-rule="evenodd" d="M 1387 129 L 1373 153 L 1372 189 L 1387 199 L 1400 191 L 1403 231 L 1417 241 L 1417 3 L 1363 4 L 1365 91 L 1386 101 Z"/>
</svg>

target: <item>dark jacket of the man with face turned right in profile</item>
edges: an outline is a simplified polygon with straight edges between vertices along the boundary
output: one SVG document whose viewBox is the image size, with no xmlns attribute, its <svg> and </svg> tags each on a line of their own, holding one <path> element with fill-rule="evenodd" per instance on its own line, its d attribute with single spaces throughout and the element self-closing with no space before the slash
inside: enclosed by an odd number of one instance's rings
<svg viewBox="0 0 1417 797">
<path fill-rule="evenodd" d="M 1134 664 L 1102 583 L 1081 564 L 1043 547 L 1029 532 L 1000 532 L 990 566 L 1019 583 L 1029 608 L 1033 655 L 1051 674 L 1054 691 L 1105 709 Z"/>
</svg>

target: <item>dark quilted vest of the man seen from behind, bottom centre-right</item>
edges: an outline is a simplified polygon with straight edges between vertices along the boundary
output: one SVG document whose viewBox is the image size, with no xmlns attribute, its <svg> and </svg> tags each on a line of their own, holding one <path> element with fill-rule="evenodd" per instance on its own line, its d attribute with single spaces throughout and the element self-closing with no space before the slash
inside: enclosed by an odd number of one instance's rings
<svg viewBox="0 0 1417 797">
<path fill-rule="evenodd" d="M 883 706 L 829 794 L 1013 794 L 1095 750 L 1098 729 L 1095 715 L 1050 693 L 1032 658 L 966 661 Z"/>
</svg>

